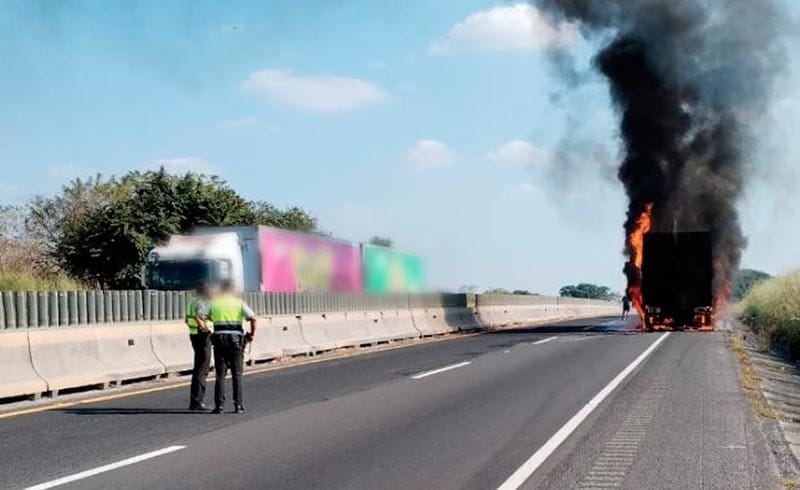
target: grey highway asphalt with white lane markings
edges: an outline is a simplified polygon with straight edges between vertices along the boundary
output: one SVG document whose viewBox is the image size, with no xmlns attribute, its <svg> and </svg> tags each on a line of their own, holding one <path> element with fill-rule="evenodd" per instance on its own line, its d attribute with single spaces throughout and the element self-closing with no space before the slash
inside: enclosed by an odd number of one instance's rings
<svg viewBox="0 0 800 490">
<path fill-rule="evenodd" d="M 780 488 L 723 334 L 622 329 L 253 374 L 243 415 L 186 412 L 180 388 L 3 419 L 0 487 Z"/>
</svg>

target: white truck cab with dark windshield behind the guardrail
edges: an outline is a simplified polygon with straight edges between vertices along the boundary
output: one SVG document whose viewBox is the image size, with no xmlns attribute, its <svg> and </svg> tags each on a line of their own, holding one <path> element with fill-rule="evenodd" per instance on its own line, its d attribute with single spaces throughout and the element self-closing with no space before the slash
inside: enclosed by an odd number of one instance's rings
<svg viewBox="0 0 800 490">
<path fill-rule="evenodd" d="M 142 285 L 148 289 L 181 291 L 194 289 L 201 281 L 232 280 L 244 288 L 242 251 L 235 232 L 173 235 L 167 244 L 154 248 L 142 270 Z"/>
</svg>

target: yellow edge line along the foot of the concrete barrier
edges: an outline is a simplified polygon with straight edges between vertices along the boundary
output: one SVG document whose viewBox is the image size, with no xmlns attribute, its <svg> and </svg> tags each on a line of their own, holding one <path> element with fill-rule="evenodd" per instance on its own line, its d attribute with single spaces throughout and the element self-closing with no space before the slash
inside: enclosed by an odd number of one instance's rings
<svg viewBox="0 0 800 490">
<path fill-rule="evenodd" d="M 431 343 L 442 342 L 442 341 L 446 341 L 446 340 L 466 339 L 466 338 L 470 338 L 470 337 L 475 337 L 476 335 L 480 335 L 480 334 L 481 334 L 481 332 L 476 332 L 476 333 L 470 333 L 470 334 L 453 335 L 451 337 L 450 336 L 441 337 L 441 338 L 438 338 L 438 339 L 423 340 L 421 342 L 411 342 L 411 343 L 408 343 L 408 344 L 405 344 L 405 345 L 395 345 L 395 346 L 384 347 L 384 348 L 378 347 L 378 348 L 375 348 L 375 349 L 363 349 L 363 350 L 356 349 L 353 353 L 349 353 L 349 354 L 345 353 L 345 351 L 342 351 L 342 355 L 326 357 L 324 359 L 309 359 L 308 361 L 301 361 L 301 362 L 296 362 L 296 363 L 287 363 L 287 364 L 285 364 L 283 366 L 268 366 L 268 367 L 263 367 L 263 368 L 258 368 L 258 369 L 250 369 L 250 370 L 247 370 L 247 371 L 244 372 L 244 376 L 249 376 L 251 374 L 267 373 L 267 372 L 270 372 L 270 371 L 278 371 L 278 370 L 281 370 L 281 369 L 288 369 L 290 367 L 296 367 L 296 366 L 308 366 L 308 365 L 311 365 L 311 364 L 319 364 L 321 362 L 335 361 L 335 360 L 338 360 L 338 359 L 345 359 L 345 358 L 348 358 L 348 357 L 357 357 L 357 356 L 360 356 L 360 355 L 372 354 L 372 353 L 376 353 L 376 352 L 389 352 L 389 351 L 398 350 L 398 349 L 405 349 L 406 347 L 411 347 L 411 346 L 414 346 L 414 345 L 431 344 Z M 214 376 L 211 375 L 211 376 L 208 377 L 208 379 L 209 380 L 213 380 Z M 98 402 L 104 402 L 104 401 L 109 401 L 109 400 L 117 400 L 117 399 L 120 399 L 120 398 L 129 398 L 129 397 L 132 397 L 132 396 L 146 395 L 148 393 L 156 393 L 156 392 L 165 391 L 165 390 L 173 390 L 175 388 L 183 388 L 183 387 L 189 386 L 190 384 L 191 383 L 189 381 L 181 381 L 180 383 L 171 383 L 171 384 L 169 384 L 167 386 L 156 386 L 156 387 L 153 387 L 153 388 L 143 388 L 143 389 L 140 389 L 140 390 L 126 391 L 124 393 L 115 393 L 113 395 L 97 396 L 97 397 L 94 397 L 94 398 L 88 398 L 86 400 L 75 400 L 75 401 L 71 401 L 71 402 L 54 402 L 52 404 L 44 405 L 44 406 L 41 406 L 41 407 L 24 408 L 24 409 L 21 409 L 21 410 L 14 410 L 14 411 L 11 411 L 11 412 L 0 413 L 0 420 L 11 418 L 11 417 L 19 417 L 21 415 L 30 415 L 30 414 L 33 414 L 33 413 L 48 412 L 50 410 L 58 410 L 58 409 L 61 409 L 61 408 L 74 407 L 76 405 L 88 405 L 88 404 L 91 404 L 91 403 L 98 403 Z"/>
</svg>

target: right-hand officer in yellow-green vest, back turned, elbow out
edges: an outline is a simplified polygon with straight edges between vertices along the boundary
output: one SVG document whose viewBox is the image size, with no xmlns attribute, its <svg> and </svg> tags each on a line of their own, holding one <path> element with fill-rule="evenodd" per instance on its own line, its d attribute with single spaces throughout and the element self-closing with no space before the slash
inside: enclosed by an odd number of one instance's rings
<svg viewBox="0 0 800 490">
<path fill-rule="evenodd" d="M 214 384 L 214 412 L 222 413 L 225 403 L 225 375 L 231 370 L 233 378 L 233 408 L 235 413 L 244 412 L 242 405 L 242 371 L 244 369 L 244 347 L 252 342 L 256 334 L 256 317 L 253 310 L 236 296 L 233 283 L 224 280 L 222 292 L 211 301 L 211 321 L 214 322 L 214 369 L 217 379 Z M 245 335 L 242 322 L 250 323 L 250 332 Z"/>
</svg>

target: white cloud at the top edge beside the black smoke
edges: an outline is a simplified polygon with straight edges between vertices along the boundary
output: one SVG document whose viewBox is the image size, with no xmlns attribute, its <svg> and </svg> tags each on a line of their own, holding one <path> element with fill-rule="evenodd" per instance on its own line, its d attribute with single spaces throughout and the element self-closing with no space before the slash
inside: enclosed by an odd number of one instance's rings
<svg viewBox="0 0 800 490">
<path fill-rule="evenodd" d="M 431 51 L 445 54 L 458 49 L 530 51 L 570 47 L 579 36 L 575 24 L 555 24 L 532 5 L 518 3 L 470 15 L 434 42 Z"/>
</svg>

